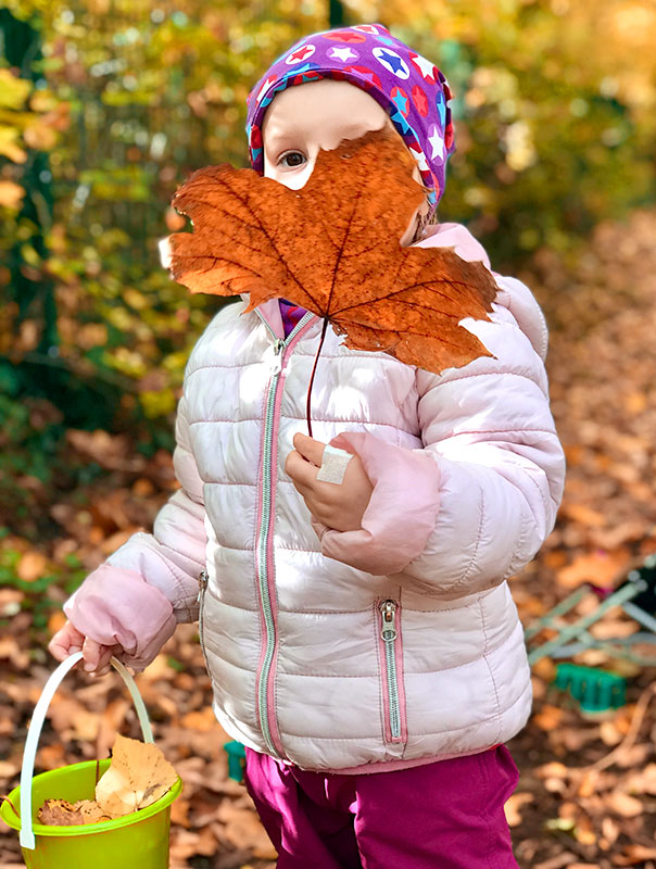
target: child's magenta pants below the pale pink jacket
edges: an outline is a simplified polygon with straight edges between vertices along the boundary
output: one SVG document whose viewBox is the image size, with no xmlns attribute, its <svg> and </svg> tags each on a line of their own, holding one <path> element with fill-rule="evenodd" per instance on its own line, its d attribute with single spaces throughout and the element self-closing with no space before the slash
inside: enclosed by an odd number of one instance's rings
<svg viewBox="0 0 656 869">
<path fill-rule="evenodd" d="M 505 745 L 356 776 L 247 748 L 244 772 L 279 869 L 518 869 L 503 810 L 517 779 Z"/>
</svg>

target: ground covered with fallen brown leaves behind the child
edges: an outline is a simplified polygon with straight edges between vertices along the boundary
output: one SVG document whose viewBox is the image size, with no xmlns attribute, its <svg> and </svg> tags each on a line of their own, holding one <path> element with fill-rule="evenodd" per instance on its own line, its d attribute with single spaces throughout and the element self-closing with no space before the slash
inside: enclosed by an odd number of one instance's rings
<svg viewBox="0 0 656 869">
<path fill-rule="evenodd" d="M 541 254 L 531 275 L 552 326 L 553 408 L 568 457 L 558 525 L 539 558 L 514 580 L 526 624 L 585 581 L 619 584 L 656 551 L 656 213 L 597 227 L 566 265 Z M 47 406 L 35 406 L 47 414 Z M 108 474 L 40 507 L 59 533 L 35 549 L 0 541 L 0 792 L 17 782 L 26 725 L 53 662 L 42 651 L 62 620 L 67 589 L 139 527 L 175 487 L 169 457 L 135 457 L 104 432 L 70 432 L 72 461 Z M 597 605 L 593 594 L 578 613 Z M 626 637 L 635 624 L 611 610 L 592 632 Z M 648 650 L 640 650 L 643 653 Z M 656 651 L 656 650 L 655 650 Z M 656 702 L 653 669 L 589 651 L 577 660 L 621 671 L 627 705 L 588 720 L 550 684 L 554 663 L 534 668 L 534 714 L 510 747 L 521 770 L 507 806 L 522 869 L 656 869 Z M 174 805 L 172 867 L 273 867 L 275 854 L 240 784 L 227 778 L 226 734 L 210 708 L 194 626 L 182 626 L 138 677 L 155 738 L 185 780 Z M 138 736 L 118 678 L 76 673 L 55 695 L 38 755 L 40 769 L 106 756 L 113 733 Z M 0 866 L 22 866 L 3 829 Z"/>
</svg>

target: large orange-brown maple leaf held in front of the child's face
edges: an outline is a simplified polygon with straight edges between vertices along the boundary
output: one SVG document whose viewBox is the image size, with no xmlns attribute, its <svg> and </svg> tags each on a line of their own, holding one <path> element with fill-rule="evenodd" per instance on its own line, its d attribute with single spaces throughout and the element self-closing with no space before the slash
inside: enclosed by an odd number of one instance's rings
<svg viewBox="0 0 656 869">
<path fill-rule="evenodd" d="M 169 238 L 171 272 L 194 292 L 274 297 L 325 317 L 346 347 L 437 374 L 491 355 L 465 317 L 488 319 L 496 285 L 453 248 L 402 248 L 425 197 L 415 161 L 383 128 L 320 151 L 290 190 L 253 169 L 199 169 L 173 199 L 193 232 Z"/>
</svg>

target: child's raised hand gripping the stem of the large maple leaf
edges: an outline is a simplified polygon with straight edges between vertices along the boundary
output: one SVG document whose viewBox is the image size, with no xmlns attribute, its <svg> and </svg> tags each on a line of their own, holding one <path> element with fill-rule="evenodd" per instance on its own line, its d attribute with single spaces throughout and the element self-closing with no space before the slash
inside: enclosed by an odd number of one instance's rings
<svg viewBox="0 0 656 869">
<path fill-rule="evenodd" d="M 343 482 L 337 486 L 316 478 L 325 443 L 300 432 L 294 434 L 293 443 L 295 450 L 287 456 L 285 470 L 314 518 L 336 531 L 356 531 L 361 528 L 374 487 L 359 456 L 353 455 Z"/>
</svg>

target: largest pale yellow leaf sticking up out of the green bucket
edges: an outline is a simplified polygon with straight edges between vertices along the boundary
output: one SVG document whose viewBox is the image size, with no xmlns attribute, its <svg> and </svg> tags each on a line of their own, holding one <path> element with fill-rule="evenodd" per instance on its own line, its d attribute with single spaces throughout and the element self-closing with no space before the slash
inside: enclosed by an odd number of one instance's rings
<svg viewBox="0 0 656 869">
<path fill-rule="evenodd" d="M 106 815 L 121 818 L 155 803 L 177 778 L 156 745 L 117 734 L 112 763 L 96 785 L 96 801 Z"/>
</svg>

